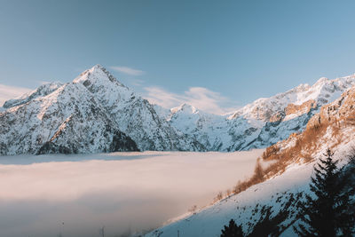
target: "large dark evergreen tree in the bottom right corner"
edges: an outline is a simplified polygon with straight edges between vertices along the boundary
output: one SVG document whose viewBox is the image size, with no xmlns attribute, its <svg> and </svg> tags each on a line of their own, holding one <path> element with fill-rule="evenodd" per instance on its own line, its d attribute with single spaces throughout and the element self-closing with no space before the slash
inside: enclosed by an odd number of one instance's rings
<svg viewBox="0 0 355 237">
<path fill-rule="evenodd" d="M 350 211 L 350 176 L 337 168 L 337 162 L 329 149 L 314 167 L 310 189 L 314 194 L 305 194 L 300 220 L 294 227 L 299 236 L 351 236 L 354 217 Z"/>
</svg>

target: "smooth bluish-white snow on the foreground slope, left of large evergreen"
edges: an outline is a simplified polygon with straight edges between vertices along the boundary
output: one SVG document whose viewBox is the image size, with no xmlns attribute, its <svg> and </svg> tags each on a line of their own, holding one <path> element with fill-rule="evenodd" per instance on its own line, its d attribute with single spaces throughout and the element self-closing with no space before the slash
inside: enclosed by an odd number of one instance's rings
<svg viewBox="0 0 355 237">
<path fill-rule="evenodd" d="M 275 210 L 280 209 L 280 204 L 288 197 L 285 192 L 294 193 L 308 190 L 312 174 L 312 164 L 288 169 L 283 175 L 252 186 L 241 194 L 236 194 L 214 205 L 201 209 L 196 214 L 189 214 L 170 225 L 146 234 L 146 237 L 217 237 L 221 229 L 230 219 L 243 226 L 243 232 L 248 233 L 248 223 L 260 218 L 260 213 L 255 213 L 256 205 L 272 205 Z M 291 184 L 291 185 L 290 185 Z M 279 200 L 279 201 L 277 201 Z M 295 236 L 287 233 L 284 236 Z"/>
</svg>

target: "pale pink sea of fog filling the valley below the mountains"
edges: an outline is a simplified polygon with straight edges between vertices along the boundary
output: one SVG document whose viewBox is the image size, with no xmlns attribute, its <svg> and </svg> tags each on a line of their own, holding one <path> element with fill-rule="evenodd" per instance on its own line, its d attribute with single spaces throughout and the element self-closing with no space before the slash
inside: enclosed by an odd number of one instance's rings
<svg viewBox="0 0 355 237">
<path fill-rule="evenodd" d="M 208 205 L 264 150 L 0 156 L 0 236 L 130 236 Z"/>
</svg>

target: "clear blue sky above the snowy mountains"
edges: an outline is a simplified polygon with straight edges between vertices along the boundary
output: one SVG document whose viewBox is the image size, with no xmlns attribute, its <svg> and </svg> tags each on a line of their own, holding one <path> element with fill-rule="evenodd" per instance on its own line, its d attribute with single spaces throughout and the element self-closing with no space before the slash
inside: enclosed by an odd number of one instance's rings
<svg viewBox="0 0 355 237">
<path fill-rule="evenodd" d="M 355 72 L 354 1 L 1 1 L 0 83 L 69 82 L 95 64 L 133 89 L 225 107 Z M 127 68 L 126 68 L 127 69 Z M 186 92 L 188 91 L 188 92 Z M 228 101 L 227 101 L 228 100 Z"/>
</svg>

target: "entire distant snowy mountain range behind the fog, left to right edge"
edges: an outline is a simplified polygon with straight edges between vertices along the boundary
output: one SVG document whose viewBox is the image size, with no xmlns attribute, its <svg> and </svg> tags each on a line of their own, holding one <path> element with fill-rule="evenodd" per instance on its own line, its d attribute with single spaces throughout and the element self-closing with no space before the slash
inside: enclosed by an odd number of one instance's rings
<svg viewBox="0 0 355 237">
<path fill-rule="evenodd" d="M 94 66 L 72 83 L 48 83 L 0 110 L 0 154 L 224 151 L 271 146 L 305 129 L 355 76 L 320 78 L 228 115 L 183 104 L 165 109 Z"/>
</svg>

